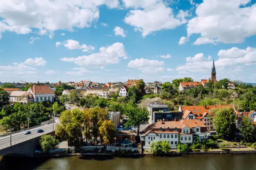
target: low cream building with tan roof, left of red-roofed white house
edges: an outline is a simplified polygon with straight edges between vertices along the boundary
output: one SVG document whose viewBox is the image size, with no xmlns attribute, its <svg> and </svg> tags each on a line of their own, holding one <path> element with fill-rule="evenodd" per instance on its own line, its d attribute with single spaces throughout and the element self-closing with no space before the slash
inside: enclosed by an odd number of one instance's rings
<svg viewBox="0 0 256 170">
<path fill-rule="evenodd" d="M 34 102 L 34 97 L 33 94 L 28 91 L 13 91 L 10 94 L 10 102 Z"/>
</svg>

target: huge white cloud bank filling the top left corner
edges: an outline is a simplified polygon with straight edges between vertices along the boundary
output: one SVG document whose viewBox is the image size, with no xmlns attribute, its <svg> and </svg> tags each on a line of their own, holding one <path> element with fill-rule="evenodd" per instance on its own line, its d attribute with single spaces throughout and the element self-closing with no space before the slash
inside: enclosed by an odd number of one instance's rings
<svg viewBox="0 0 256 170">
<path fill-rule="evenodd" d="M 99 18 L 100 5 L 119 6 L 118 0 L 1 0 L 1 32 L 28 34 L 32 28 L 51 38 L 56 30 L 88 28 Z"/>
</svg>

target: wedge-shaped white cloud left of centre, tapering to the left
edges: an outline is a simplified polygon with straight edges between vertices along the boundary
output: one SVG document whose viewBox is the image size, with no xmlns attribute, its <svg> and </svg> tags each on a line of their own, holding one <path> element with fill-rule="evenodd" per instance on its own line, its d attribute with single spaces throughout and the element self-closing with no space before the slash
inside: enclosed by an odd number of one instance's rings
<svg viewBox="0 0 256 170">
<path fill-rule="evenodd" d="M 116 42 L 108 47 L 100 47 L 100 52 L 82 55 L 77 58 L 61 58 L 62 61 L 74 62 L 80 66 L 105 67 L 109 64 L 118 64 L 120 58 L 127 59 L 123 43 Z"/>
</svg>

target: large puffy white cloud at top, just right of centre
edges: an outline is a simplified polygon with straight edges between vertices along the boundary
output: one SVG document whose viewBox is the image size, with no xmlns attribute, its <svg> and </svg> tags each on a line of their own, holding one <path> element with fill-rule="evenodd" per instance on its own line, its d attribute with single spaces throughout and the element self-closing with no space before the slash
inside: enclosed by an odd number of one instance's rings
<svg viewBox="0 0 256 170">
<path fill-rule="evenodd" d="M 164 2 L 159 2 L 159 0 L 151 0 L 150 2 L 146 2 L 146 4 L 143 4 L 145 1 L 132 1 L 129 4 L 128 2 L 128 0 L 125 1 L 125 6 L 127 7 L 144 8 L 130 10 L 124 18 L 124 22 L 135 27 L 135 31 L 142 32 L 143 37 L 154 31 L 174 29 L 185 23 L 183 16 L 186 14 L 180 11 L 179 18 L 175 18 L 172 8 L 166 7 Z"/>
</svg>

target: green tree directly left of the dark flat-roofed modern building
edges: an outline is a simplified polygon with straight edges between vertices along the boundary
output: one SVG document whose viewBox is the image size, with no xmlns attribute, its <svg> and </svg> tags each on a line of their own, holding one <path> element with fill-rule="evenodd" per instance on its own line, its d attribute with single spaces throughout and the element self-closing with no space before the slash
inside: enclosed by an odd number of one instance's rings
<svg viewBox="0 0 256 170">
<path fill-rule="evenodd" d="M 132 103 L 128 103 L 125 107 L 125 115 L 129 117 L 125 122 L 125 126 L 137 127 L 137 135 L 139 135 L 140 124 L 148 121 L 149 113 L 146 108 L 135 107 Z"/>
</svg>

